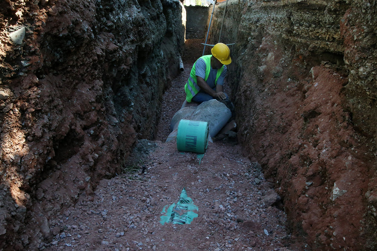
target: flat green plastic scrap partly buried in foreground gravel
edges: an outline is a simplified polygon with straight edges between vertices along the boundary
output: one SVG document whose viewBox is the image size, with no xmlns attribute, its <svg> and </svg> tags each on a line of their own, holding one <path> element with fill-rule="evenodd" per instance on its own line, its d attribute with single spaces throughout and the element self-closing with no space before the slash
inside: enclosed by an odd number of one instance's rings
<svg viewBox="0 0 377 251">
<path fill-rule="evenodd" d="M 161 213 L 165 213 L 160 216 L 160 223 L 172 224 L 191 224 L 192 220 L 198 217 L 198 214 L 194 211 L 198 211 L 198 207 L 192 203 L 192 199 L 187 197 L 186 189 L 183 189 L 181 196 L 179 196 L 178 202 L 169 206 L 166 211 L 167 205 L 162 208 Z"/>
</svg>

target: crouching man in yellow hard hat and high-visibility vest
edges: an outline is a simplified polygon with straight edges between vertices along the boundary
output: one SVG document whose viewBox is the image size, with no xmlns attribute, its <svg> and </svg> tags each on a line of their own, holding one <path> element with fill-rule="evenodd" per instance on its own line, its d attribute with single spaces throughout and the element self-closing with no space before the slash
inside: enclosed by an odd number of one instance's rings
<svg viewBox="0 0 377 251">
<path fill-rule="evenodd" d="M 212 55 L 200 57 L 194 63 L 189 80 L 185 84 L 187 102 L 205 102 L 211 99 L 228 99 L 222 85 L 231 63 L 230 50 L 226 44 L 218 43 L 211 49 Z"/>
</svg>

